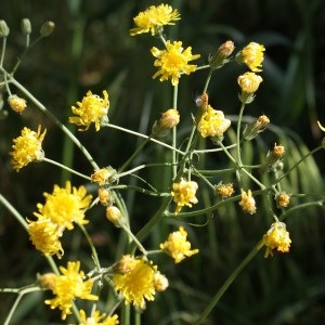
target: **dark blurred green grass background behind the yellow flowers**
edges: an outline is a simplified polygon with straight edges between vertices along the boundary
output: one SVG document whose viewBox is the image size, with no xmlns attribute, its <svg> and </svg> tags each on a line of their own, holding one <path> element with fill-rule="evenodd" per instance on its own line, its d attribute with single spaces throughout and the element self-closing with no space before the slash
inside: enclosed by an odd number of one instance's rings
<svg viewBox="0 0 325 325">
<path fill-rule="evenodd" d="M 287 148 L 286 164 L 292 166 L 308 150 L 320 144 L 323 134 L 316 120 L 325 125 L 323 0 L 179 0 L 164 3 L 177 8 L 182 16 L 176 26 L 166 28 L 168 38 L 182 40 L 184 47 L 192 47 L 194 54 L 200 53 L 197 61 L 200 65 L 207 64 L 209 54 L 229 39 L 235 42 L 237 50 L 250 41 L 265 46 L 263 83 L 246 114 L 265 114 L 274 125 L 263 133 L 263 140 L 247 145 L 246 161 L 264 156 L 274 142 L 281 141 Z M 112 122 L 148 133 L 159 114 L 172 103 L 170 83 L 152 80 L 155 68 L 150 49 L 153 46 L 161 48 L 159 39 L 147 34 L 129 36 L 132 17 L 151 4 L 160 2 L 2 1 L 0 18 L 11 29 L 4 65 L 10 69 L 24 50 L 22 18 L 31 21 L 34 38 L 43 22 L 53 21 L 55 31 L 26 55 L 16 73 L 17 80 L 62 121 L 67 120 L 70 106 L 88 90 L 101 94 L 107 89 Z M 236 78 L 245 70 L 236 65 L 225 66 L 213 76 L 209 87 L 210 104 L 231 117 L 239 109 Z M 179 109 L 184 132 L 190 129 L 191 114 L 195 113 L 194 99 L 202 92 L 206 76 L 207 70 L 202 70 L 181 80 Z M 0 91 L 5 102 L 4 89 Z M 9 110 L 6 104 L 3 109 Z M 74 184 L 81 184 L 79 179 L 46 164 L 32 164 L 18 173 L 13 171 L 8 155 L 12 139 L 23 127 L 35 129 L 39 123 L 48 128 L 43 147 L 49 158 L 64 161 L 87 174 L 92 172 L 83 156 L 32 105 L 22 115 L 9 110 L 8 117 L 0 120 L 0 191 L 26 218 L 36 210 L 37 203 L 43 202 L 42 193 L 51 192 L 54 183 L 63 184 L 72 178 Z M 77 135 L 99 166 L 114 168 L 118 168 L 139 144 L 138 139 L 128 134 L 106 129 L 95 132 L 92 127 Z M 136 164 L 160 161 L 165 155 L 157 146 L 150 145 Z M 324 153 L 314 158 L 290 174 L 285 188 L 288 193 L 324 193 Z M 202 164 L 202 167 L 218 169 L 224 161 L 208 155 Z M 162 187 L 164 181 L 169 183 L 169 180 L 161 176 L 165 173 L 155 170 L 142 177 Z M 216 183 L 220 180 L 216 176 Z M 87 185 L 89 191 L 93 190 Z M 143 195 L 122 195 L 131 211 L 132 226 L 139 230 L 155 211 L 158 199 L 147 204 Z M 205 193 L 202 195 L 202 207 L 213 200 Z M 187 229 L 193 246 L 200 248 L 199 256 L 180 265 L 174 265 L 167 257 L 156 259 L 170 280 L 170 288 L 147 304 L 144 324 L 191 324 L 268 230 L 271 217 L 262 207 L 260 203 L 256 216 L 242 216 L 236 207 L 219 209 L 208 216 L 213 219 L 207 226 Z M 292 213 L 286 221 L 292 239 L 290 253 L 264 259 L 260 252 L 226 291 L 206 324 L 322 324 L 325 318 L 324 218 L 324 208 Z M 107 261 L 103 264 L 108 265 L 119 256 L 123 238 L 119 230 L 107 224 L 101 207 L 92 210 L 91 220 L 89 230 L 100 258 Z M 205 220 L 184 221 L 202 224 Z M 169 223 L 174 225 L 178 221 Z M 169 231 L 169 224 L 155 229 L 146 245 L 156 248 Z M 60 263 L 65 265 L 66 260 L 78 258 L 91 268 L 89 248 L 81 234 L 75 232 L 64 239 L 66 255 Z M 35 281 L 37 272 L 46 270 L 44 259 L 34 250 L 27 234 L 0 206 L 0 287 L 26 285 Z M 13 324 L 60 324 L 60 314 L 48 311 L 43 299 L 41 295 L 25 298 Z M 107 301 L 109 306 L 108 292 Z M 0 295 L 0 322 L 12 302 L 13 296 Z"/>
</svg>

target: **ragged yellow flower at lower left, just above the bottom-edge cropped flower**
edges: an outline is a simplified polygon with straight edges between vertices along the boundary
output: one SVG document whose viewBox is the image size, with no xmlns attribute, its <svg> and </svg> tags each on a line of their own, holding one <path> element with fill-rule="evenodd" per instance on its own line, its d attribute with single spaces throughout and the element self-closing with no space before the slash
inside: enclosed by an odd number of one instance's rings
<svg viewBox="0 0 325 325">
<path fill-rule="evenodd" d="M 93 281 L 83 281 L 84 273 L 79 271 L 80 262 L 68 262 L 67 268 L 60 266 L 62 275 L 57 275 L 52 292 L 56 296 L 47 299 L 46 303 L 51 309 L 58 308 L 62 311 L 62 320 L 72 313 L 72 303 L 76 298 L 87 300 L 99 300 L 99 297 L 91 295 Z"/>
</svg>

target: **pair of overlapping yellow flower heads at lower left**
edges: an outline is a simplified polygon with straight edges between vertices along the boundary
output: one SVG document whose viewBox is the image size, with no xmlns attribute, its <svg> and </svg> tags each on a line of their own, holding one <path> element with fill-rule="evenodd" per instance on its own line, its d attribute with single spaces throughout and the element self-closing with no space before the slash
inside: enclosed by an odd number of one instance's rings
<svg viewBox="0 0 325 325">
<path fill-rule="evenodd" d="M 74 223 L 86 224 L 84 212 L 91 203 L 84 186 L 73 187 L 70 182 L 61 188 L 54 185 L 52 194 L 44 193 L 46 204 L 38 204 L 36 221 L 28 220 L 28 233 L 36 249 L 46 256 L 63 255 L 60 237 L 65 229 L 73 230 Z"/>
</svg>

